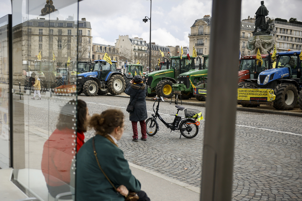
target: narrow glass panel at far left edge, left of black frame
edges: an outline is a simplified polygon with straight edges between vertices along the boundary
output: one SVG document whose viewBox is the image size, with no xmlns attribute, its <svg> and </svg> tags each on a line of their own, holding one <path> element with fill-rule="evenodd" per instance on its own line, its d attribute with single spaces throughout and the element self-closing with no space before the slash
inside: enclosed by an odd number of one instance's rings
<svg viewBox="0 0 302 201">
<path fill-rule="evenodd" d="M 0 18 L 0 168 L 10 167 L 8 64 L 7 15 Z"/>
</svg>

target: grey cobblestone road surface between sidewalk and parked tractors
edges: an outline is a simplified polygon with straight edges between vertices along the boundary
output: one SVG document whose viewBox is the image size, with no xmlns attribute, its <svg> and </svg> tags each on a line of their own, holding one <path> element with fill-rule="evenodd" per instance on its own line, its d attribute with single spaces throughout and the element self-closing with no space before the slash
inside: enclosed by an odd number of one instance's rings
<svg viewBox="0 0 302 201">
<path fill-rule="evenodd" d="M 170 133 L 171 130 L 159 121 L 160 130 L 156 135 L 148 136 L 147 141 L 133 142 L 125 109 L 129 99 L 85 95 L 78 98 L 87 102 L 90 114 L 108 108 L 124 111 L 126 127 L 118 144 L 129 162 L 200 187 L 204 121 L 201 121 L 198 135 L 192 139 L 179 139 L 179 132 Z M 62 103 L 62 99 L 59 101 Z M 152 106 L 153 102 L 147 101 L 148 117 L 152 114 Z M 204 107 L 184 106 L 202 111 L 205 118 Z M 56 112 L 53 109 L 50 115 Z M 161 103 L 159 112 L 163 119 L 172 122 L 174 117 L 169 114 L 173 115 L 176 108 L 174 104 Z M 179 114 L 184 113 L 180 111 Z M 237 111 L 233 200 L 302 200 L 301 123 L 300 117 Z M 89 130 L 85 140 L 93 135 L 94 131 Z"/>
</svg>

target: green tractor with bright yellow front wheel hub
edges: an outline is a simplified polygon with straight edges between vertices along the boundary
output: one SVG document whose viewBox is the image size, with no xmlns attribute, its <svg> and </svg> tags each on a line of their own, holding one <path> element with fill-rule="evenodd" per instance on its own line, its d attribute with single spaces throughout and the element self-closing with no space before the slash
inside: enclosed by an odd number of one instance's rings
<svg viewBox="0 0 302 201">
<path fill-rule="evenodd" d="M 154 71 L 145 75 L 147 81 L 148 96 L 172 97 L 172 85 L 177 83 L 178 76 L 182 73 L 195 69 L 195 58 L 188 60 L 187 56 L 170 57 L 170 68 Z M 168 62 L 169 63 L 169 62 Z"/>
</svg>

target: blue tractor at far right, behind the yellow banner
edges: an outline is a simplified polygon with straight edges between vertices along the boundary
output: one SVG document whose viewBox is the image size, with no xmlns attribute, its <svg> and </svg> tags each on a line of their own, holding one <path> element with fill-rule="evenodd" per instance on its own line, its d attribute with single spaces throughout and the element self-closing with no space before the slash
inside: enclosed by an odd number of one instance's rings
<svg viewBox="0 0 302 201">
<path fill-rule="evenodd" d="M 273 89 L 275 100 L 273 106 L 277 110 L 292 110 L 297 104 L 302 109 L 302 60 L 301 51 L 278 52 L 276 56 L 275 68 L 262 71 L 258 79 L 245 80 L 244 88 Z M 269 58 L 270 59 L 270 58 Z M 261 102 L 243 102 L 245 107 L 256 107 Z"/>
</svg>

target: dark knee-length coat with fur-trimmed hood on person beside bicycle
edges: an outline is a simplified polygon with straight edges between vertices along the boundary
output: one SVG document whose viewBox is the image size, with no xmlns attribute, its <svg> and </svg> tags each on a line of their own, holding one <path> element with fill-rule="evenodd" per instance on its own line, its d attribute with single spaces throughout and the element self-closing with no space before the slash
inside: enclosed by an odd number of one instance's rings
<svg viewBox="0 0 302 201">
<path fill-rule="evenodd" d="M 131 105 L 134 105 L 133 111 L 129 113 L 130 121 L 143 121 L 148 118 L 146 106 L 146 90 L 146 85 L 143 83 L 130 84 L 125 90 L 125 93 L 130 96 Z M 136 96 L 137 101 L 135 102 Z"/>
</svg>

